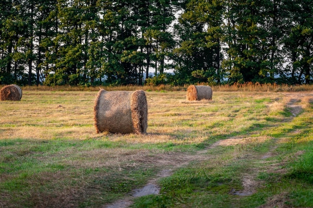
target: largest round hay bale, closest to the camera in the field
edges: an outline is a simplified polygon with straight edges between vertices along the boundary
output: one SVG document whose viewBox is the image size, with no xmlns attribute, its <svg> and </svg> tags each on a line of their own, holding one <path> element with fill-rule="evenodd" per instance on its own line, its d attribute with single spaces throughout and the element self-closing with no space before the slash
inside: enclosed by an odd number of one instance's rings
<svg viewBox="0 0 313 208">
<path fill-rule="evenodd" d="M 94 126 L 97 133 L 145 133 L 148 107 L 143 90 L 100 90 L 94 103 Z"/>
</svg>

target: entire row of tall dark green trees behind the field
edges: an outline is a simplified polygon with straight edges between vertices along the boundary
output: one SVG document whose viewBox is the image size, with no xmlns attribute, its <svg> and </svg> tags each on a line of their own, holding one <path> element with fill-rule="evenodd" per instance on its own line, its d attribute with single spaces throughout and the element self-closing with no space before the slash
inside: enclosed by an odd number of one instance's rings
<svg viewBox="0 0 313 208">
<path fill-rule="evenodd" d="M 312 37 L 312 0 L 1 0 L 0 84 L 310 84 Z"/>
</svg>

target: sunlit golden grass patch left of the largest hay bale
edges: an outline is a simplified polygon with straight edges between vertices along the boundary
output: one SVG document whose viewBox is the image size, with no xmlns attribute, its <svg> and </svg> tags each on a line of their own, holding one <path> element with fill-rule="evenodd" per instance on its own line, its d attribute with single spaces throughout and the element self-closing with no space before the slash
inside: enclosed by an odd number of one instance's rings
<svg viewBox="0 0 313 208">
<path fill-rule="evenodd" d="M 93 98 L 94 92 L 25 91 L 19 102 L 1 103 L 1 138 L 96 138 Z"/>
</svg>

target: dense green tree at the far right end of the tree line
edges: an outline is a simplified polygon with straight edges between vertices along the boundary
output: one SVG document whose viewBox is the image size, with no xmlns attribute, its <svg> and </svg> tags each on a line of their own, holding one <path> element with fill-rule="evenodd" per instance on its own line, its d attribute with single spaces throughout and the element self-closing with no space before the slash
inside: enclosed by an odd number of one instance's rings
<svg viewBox="0 0 313 208">
<path fill-rule="evenodd" d="M 289 30 L 284 36 L 284 49 L 290 63 L 282 74 L 292 84 L 312 82 L 313 73 L 313 2 L 286 0 Z"/>
</svg>

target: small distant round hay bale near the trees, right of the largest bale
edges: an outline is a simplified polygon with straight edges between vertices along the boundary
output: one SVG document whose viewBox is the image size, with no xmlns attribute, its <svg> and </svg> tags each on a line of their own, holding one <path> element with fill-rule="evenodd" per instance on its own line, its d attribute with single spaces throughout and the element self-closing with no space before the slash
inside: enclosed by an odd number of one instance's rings
<svg viewBox="0 0 313 208">
<path fill-rule="evenodd" d="M 212 88 L 205 85 L 190 85 L 187 88 L 187 100 L 211 100 Z"/>
</svg>

